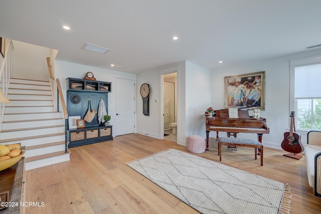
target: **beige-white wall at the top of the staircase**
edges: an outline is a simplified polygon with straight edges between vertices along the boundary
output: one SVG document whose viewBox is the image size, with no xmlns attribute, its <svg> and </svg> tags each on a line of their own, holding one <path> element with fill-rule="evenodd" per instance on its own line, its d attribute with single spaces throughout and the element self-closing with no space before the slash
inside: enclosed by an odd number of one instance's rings
<svg viewBox="0 0 321 214">
<path fill-rule="evenodd" d="M 13 76 L 15 78 L 48 80 L 47 59 L 50 49 L 13 41 Z"/>
</svg>

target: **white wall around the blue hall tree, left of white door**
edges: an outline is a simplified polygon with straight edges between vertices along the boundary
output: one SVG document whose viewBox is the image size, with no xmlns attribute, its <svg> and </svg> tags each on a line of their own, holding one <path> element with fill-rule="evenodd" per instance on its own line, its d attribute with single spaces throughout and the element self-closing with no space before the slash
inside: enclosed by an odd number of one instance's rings
<svg viewBox="0 0 321 214">
<path fill-rule="evenodd" d="M 59 78 L 60 80 L 65 101 L 67 97 L 66 79 L 68 77 L 82 79 L 85 76 L 85 74 L 89 71 L 91 71 L 94 74 L 94 77 L 97 81 L 111 82 L 111 92 L 108 93 L 108 114 L 111 115 L 110 125 L 114 125 L 115 78 L 121 77 L 125 79 L 136 80 L 136 74 L 55 60 L 55 78 Z M 115 136 L 114 129 L 113 136 Z"/>
</svg>

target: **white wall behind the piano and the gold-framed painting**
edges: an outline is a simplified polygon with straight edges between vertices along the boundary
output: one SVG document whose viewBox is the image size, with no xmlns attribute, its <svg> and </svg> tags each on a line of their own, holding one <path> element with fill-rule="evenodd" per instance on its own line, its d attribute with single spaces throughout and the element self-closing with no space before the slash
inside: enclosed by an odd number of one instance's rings
<svg viewBox="0 0 321 214">
<path fill-rule="evenodd" d="M 264 146 L 281 149 L 284 132 L 289 129 L 289 60 L 319 55 L 320 49 L 304 51 L 298 54 L 271 58 L 261 61 L 253 61 L 235 65 L 229 68 L 215 69 L 212 71 L 212 107 L 224 108 L 224 76 L 265 71 L 265 111 L 261 111 L 261 117 L 266 118 L 269 134 L 263 134 Z M 298 132 L 298 131 L 297 131 Z M 306 132 L 301 132 L 302 144 L 306 144 Z M 220 136 L 226 136 L 220 133 Z M 238 134 L 240 137 L 256 139 L 256 134 Z"/>
</svg>

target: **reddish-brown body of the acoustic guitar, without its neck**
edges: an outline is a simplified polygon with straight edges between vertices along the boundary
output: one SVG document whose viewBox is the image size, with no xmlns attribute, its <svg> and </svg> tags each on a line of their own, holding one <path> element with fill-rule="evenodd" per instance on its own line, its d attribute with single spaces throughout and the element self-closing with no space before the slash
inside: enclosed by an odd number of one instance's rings
<svg viewBox="0 0 321 214">
<path fill-rule="evenodd" d="M 289 137 L 293 137 L 293 141 L 289 141 Z M 281 143 L 281 147 L 284 151 L 298 154 L 303 152 L 304 147 L 301 143 L 301 135 L 299 133 L 292 132 L 292 135 L 290 132 L 284 133 L 284 139 Z"/>
</svg>

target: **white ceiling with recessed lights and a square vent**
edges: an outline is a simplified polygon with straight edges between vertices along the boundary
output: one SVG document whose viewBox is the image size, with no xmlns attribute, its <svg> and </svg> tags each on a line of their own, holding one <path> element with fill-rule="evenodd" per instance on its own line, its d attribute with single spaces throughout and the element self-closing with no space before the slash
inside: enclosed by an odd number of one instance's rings
<svg viewBox="0 0 321 214">
<path fill-rule="evenodd" d="M 215 69 L 321 44 L 320 9 L 320 0 L 0 0 L 0 37 L 132 73 L 184 60 Z"/>
</svg>

